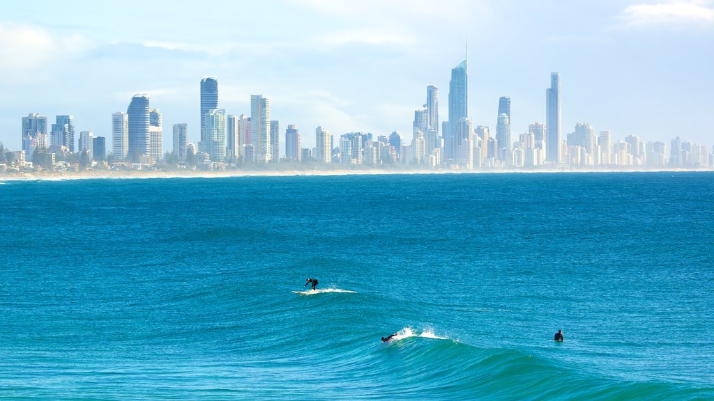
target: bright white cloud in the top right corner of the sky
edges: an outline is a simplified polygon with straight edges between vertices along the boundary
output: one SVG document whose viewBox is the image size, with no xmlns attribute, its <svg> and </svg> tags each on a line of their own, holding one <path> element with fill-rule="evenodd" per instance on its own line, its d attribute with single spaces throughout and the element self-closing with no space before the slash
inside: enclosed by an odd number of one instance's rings
<svg viewBox="0 0 714 401">
<path fill-rule="evenodd" d="M 620 14 L 625 26 L 714 26 L 712 1 L 666 1 L 658 4 L 633 4 Z"/>
</svg>

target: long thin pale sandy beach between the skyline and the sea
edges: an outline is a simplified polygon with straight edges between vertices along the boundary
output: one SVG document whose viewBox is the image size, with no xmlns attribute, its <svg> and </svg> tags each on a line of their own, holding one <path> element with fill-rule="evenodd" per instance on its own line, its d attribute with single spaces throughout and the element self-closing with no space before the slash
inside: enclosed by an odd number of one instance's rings
<svg viewBox="0 0 714 401">
<path fill-rule="evenodd" d="M 553 173 L 683 173 L 712 172 L 713 168 L 657 168 L 609 170 L 285 170 L 285 171 L 82 171 L 43 173 L 0 173 L 0 181 L 70 181 L 86 179 L 159 179 L 159 178 L 233 178 L 233 177 L 292 177 L 292 176 L 385 176 L 434 174 L 553 174 Z"/>
</svg>

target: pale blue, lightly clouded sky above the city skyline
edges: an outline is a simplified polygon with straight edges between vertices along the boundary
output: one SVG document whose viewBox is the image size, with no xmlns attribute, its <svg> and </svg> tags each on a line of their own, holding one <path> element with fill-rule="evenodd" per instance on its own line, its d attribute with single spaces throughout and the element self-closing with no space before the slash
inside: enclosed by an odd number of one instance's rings
<svg viewBox="0 0 714 401">
<path fill-rule="evenodd" d="M 21 148 L 28 113 L 71 114 L 76 138 L 111 142 L 111 113 L 149 93 L 170 151 L 174 123 L 198 141 L 200 81 L 215 76 L 226 113 L 270 98 L 281 141 L 296 124 L 303 148 L 317 126 L 410 143 L 428 84 L 447 118 L 464 57 L 474 126 L 495 131 L 510 96 L 517 140 L 545 121 L 558 72 L 563 137 L 590 123 L 613 142 L 714 147 L 714 0 L 0 1 L 0 142 Z"/>
</svg>

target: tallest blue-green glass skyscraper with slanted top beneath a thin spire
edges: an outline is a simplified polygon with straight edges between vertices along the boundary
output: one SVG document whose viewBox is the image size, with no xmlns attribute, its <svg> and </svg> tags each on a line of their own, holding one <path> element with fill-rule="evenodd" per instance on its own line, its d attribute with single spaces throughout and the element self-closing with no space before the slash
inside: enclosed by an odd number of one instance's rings
<svg viewBox="0 0 714 401">
<path fill-rule="evenodd" d="M 456 123 L 461 118 L 468 118 L 468 75 L 466 60 L 451 68 L 451 81 L 448 84 L 448 132 L 444 133 L 444 159 L 456 157 Z"/>
</svg>

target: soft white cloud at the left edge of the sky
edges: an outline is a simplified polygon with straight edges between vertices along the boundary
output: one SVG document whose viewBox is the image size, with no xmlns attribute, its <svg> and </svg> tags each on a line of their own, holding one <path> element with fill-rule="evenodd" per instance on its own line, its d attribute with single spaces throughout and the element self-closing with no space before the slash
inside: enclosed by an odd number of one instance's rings
<svg viewBox="0 0 714 401">
<path fill-rule="evenodd" d="M 79 34 L 58 35 L 39 26 L 0 22 L 0 79 L 21 84 L 48 78 L 90 46 Z"/>
</svg>

